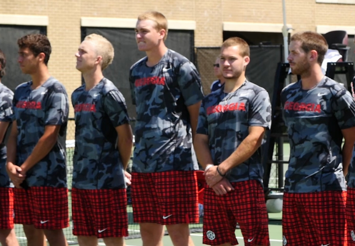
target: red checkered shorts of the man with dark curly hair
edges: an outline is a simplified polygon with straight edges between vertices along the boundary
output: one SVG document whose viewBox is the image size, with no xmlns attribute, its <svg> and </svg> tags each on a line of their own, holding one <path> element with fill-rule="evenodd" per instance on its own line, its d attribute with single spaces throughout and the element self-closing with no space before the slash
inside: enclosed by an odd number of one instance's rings
<svg viewBox="0 0 355 246">
<path fill-rule="evenodd" d="M 67 188 L 30 187 L 13 190 L 16 224 L 50 230 L 69 226 Z"/>
</svg>

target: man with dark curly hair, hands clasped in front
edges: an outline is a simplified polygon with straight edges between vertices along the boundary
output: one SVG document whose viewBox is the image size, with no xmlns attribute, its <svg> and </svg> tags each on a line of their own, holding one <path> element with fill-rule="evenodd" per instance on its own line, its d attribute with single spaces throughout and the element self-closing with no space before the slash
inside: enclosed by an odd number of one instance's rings
<svg viewBox="0 0 355 246">
<path fill-rule="evenodd" d="M 32 80 L 16 87 L 15 117 L 7 143 L 7 172 L 15 185 L 15 223 L 23 224 L 28 245 L 66 246 L 69 226 L 65 137 L 68 96 L 48 71 L 51 46 L 42 34 L 17 41 L 18 63 Z"/>
</svg>

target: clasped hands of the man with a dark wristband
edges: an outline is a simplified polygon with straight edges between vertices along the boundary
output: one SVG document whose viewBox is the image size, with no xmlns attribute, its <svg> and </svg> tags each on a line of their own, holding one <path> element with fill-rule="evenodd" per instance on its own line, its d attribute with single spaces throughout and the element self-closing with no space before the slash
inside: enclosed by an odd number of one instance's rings
<svg viewBox="0 0 355 246">
<path fill-rule="evenodd" d="M 225 177 L 222 177 L 217 170 L 218 166 L 207 165 L 204 176 L 206 183 L 211 187 L 217 195 L 225 195 L 229 191 L 234 190 L 231 183 Z"/>
</svg>

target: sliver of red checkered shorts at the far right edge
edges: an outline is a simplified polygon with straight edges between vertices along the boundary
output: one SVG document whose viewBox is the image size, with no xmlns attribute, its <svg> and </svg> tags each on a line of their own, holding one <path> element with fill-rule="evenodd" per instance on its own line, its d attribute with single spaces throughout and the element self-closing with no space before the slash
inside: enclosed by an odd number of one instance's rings
<svg viewBox="0 0 355 246">
<path fill-rule="evenodd" d="M 348 245 L 355 246 L 355 189 L 349 187 L 346 195 L 346 227 Z"/>
</svg>

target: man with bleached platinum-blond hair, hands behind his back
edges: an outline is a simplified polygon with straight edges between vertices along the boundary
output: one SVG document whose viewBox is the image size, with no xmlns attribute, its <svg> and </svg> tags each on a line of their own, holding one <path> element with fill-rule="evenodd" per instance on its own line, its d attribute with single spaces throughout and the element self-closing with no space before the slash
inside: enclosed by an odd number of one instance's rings
<svg viewBox="0 0 355 246">
<path fill-rule="evenodd" d="M 75 113 L 72 214 L 81 246 L 124 245 L 128 235 L 125 170 L 132 130 L 125 99 L 102 71 L 114 58 L 112 44 L 91 34 L 80 44 L 76 69 L 85 84 L 71 96 Z"/>
</svg>

